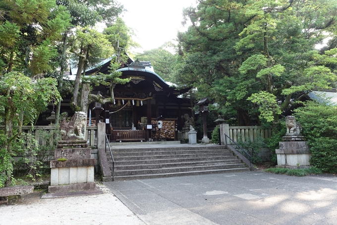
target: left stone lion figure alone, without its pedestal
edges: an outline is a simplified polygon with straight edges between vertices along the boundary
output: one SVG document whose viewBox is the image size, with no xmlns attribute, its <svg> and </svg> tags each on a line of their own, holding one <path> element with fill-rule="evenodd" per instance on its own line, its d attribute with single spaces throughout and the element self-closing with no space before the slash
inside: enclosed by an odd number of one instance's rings
<svg viewBox="0 0 337 225">
<path fill-rule="evenodd" d="M 62 135 L 62 139 L 64 136 L 79 136 L 84 138 L 82 128 L 85 127 L 86 123 L 87 115 L 85 112 L 75 112 L 69 122 L 66 122 L 66 118 L 63 118 L 60 125 L 60 134 Z"/>
</svg>

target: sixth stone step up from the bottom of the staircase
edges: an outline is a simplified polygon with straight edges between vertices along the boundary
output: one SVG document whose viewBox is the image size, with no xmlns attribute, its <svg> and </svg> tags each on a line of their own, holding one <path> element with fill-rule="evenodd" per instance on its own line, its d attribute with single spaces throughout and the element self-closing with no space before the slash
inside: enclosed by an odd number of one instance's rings
<svg viewBox="0 0 337 225">
<path fill-rule="evenodd" d="M 121 156 L 143 156 L 143 155 L 169 155 L 169 154 L 200 154 L 200 153 L 230 153 L 230 150 L 167 150 L 167 151 L 123 151 L 112 152 L 113 157 Z"/>
</svg>

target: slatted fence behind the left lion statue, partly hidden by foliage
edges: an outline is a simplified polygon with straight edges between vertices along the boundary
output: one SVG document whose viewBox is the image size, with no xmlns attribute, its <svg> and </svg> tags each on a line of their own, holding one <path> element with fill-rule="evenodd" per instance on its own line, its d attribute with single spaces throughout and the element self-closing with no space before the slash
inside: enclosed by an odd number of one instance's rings
<svg viewBox="0 0 337 225">
<path fill-rule="evenodd" d="M 0 130 L 3 129 L 4 126 L 0 126 Z M 48 136 L 54 130 L 55 126 L 34 126 L 33 130 L 31 126 L 22 126 L 22 132 L 34 136 L 39 145 L 45 145 L 47 141 L 52 142 L 53 137 L 50 137 L 50 140 L 46 140 L 42 132 L 46 132 L 46 136 Z M 87 126 L 84 137 L 88 141 L 88 147 L 97 146 L 97 126 Z"/>
</svg>

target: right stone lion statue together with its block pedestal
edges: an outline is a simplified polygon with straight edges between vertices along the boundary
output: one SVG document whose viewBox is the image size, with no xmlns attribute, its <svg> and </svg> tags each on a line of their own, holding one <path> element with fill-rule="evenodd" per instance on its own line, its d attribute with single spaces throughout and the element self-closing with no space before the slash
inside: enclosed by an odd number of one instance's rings
<svg viewBox="0 0 337 225">
<path fill-rule="evenodd" d="M 280 149 L 275 150 L 279 168 L 303 169 L 310 167 L 311 153 L 308 142 L 301 136 L 301 126 L 295 117 L 286 117 L 286 134 L 279 143 Z"/>
</svg>

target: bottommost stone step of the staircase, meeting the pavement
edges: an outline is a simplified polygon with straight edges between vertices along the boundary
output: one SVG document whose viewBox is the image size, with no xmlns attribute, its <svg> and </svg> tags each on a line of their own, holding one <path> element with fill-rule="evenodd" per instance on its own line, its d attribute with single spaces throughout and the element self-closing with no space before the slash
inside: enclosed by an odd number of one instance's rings
<svg viewBox="0 0 337 225">
<path fill-rule="evenodd" d="M 115 176 L 114 180 L 135 180 L 135 179 L 151 179 L 161 177 L 173 177 L 173 176 L 187 176 L 187 175 L 202 175 L 211 173 L 234 173 L 249 171 L 248 167 L 230 168 L 230 169 L 217 169 L 217 170 L 204 170 L 204 171 L 189 171 L 189 172 L 177 172 L 177 173 L 161 173 L 161 174 L 143 174 L 143 175 L 131 175 L 131 176 Z"/>
</svg>

